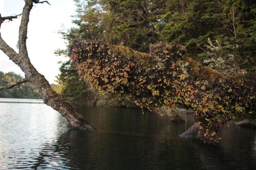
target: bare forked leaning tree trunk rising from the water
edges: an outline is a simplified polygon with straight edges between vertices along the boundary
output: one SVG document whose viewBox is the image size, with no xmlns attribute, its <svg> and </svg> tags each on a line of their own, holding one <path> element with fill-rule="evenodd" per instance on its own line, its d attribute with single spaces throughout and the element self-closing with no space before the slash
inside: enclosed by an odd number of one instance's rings
<svg viewBox="0 0 256 170">
<path fill-rule="evenodd" d="M 73 128 L 95 130 L 79 113 L 78 109 L 73 107 L 59 96 L 50 86 L 46 78 L 39 74 L 35 67 L 31 64 L 26 40 L 29 23 L 30 11 L 33 8 L 32 0 L 25 0 L 25 7 L 22 13 L 22 20 L 19 27 L 19 53 L 16 53 L 0 36 L 0 50 L 2 50 L 15 64 L 17 64 L 25 73 L 26 80 L 33 83 L 39 90 L 45 104 L 57 110 L 67 118 Z M 12 20 L 16 16 L 1 17 L 0 27 L 5 20 Z"/>
</svg>

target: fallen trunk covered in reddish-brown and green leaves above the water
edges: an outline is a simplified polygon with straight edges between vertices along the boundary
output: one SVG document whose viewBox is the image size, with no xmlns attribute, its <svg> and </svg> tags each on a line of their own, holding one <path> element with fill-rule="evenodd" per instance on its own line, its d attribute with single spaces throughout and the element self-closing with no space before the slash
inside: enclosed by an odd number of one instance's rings
<svg viewBox="0 0 256 170">
<path fill-rule="evenodd" d="M 217 143 L 217 132 L 234 117 L 256 122 L 255 82 L 203 66 L 186 57 L 182 45 L 152 44 L 150 51 L 139 53 L 94 40 L 74 40 L 70 45 L 80 77 L 93 88 L 130 98 L 142 110 L 191 108 L 198 126 L 193 129 L 206 143 Z"/>
</svg>

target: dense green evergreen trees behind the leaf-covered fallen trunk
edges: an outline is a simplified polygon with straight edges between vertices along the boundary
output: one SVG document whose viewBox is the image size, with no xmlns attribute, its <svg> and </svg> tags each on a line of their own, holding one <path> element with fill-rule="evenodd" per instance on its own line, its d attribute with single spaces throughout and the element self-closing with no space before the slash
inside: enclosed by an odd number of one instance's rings
<svg viewBox="0 0 256 170">
<path fill-rule="evenodd" d="M 255 79 L 256 4 L 253 0 L 74 2 L 76 27 L 62 32 L 69 42 L 72 39 L 103 39 L 109 44 L 129 46 L 140 52 L 148 52 L 150 43 L 176 42 L 186 46 L 189 57 L 225 75 Z M 58 53 L 68 55 L 68 51 Z M 60 91 L 70 101 L 97 103 L 114 98 L 89 92 L 88 85 L 79 81 L 72 61 L 62 63 L 60 71 Z"/>
</svg>

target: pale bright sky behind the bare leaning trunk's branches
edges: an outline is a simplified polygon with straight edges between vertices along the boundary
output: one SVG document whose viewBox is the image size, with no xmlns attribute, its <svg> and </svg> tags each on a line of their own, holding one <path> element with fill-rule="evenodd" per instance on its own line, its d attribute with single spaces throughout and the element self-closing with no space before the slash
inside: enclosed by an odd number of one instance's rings
<svg viewBox="0 0 256 170">
<path fill-rule="evenodd" d="M 71 16 L 75 15 L 76 7 L 73 0 L 48 0 L 48 2 L 51 6 L 47 3 L 35 4 L 30 13 L 27 47 L 31 63 L 50 83 L 54 83 L 55 76 L 60 73 L 58 61 L 67 60 L 54 54 L 58 48 L 66 48 L 65 40 L 57 32 L 74 26 Z M 24 4 L 24 0 L 0 0 L 0 13 L 2 16 L 20 14 Z M 3 39 L 15 51 L 17 51 L 19 23 L 20 18 L 5 22 L 0 30 Z M 23 71 L 2 51 L 0 71 L 13 71 L 24 76 Z"/>
</svg>

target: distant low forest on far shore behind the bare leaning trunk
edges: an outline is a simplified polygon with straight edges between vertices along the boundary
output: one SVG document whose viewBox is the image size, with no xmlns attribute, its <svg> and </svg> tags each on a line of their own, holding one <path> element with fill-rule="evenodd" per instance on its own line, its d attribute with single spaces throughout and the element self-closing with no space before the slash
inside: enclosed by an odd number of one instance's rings
<svg viewBox="0 0 256 170">
<path fill-rule="evenodd" d="M 0 71 L 0 86 L 23 79 L 14 72 Z M 0 90 L 0 98 L 40 99 L 39 91 L 32 83 L 23 83 L 8 90 Z"/>
</svg>

